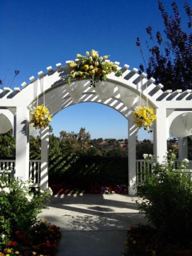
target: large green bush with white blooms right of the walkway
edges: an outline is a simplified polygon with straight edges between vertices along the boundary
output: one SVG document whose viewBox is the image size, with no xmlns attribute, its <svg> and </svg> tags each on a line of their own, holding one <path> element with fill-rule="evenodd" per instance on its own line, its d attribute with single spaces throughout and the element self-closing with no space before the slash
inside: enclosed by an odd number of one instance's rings
<svg viewBox="0 0 192 256">
<path fill-rule="evenodd" d="M 157 229 L 161 240 L 183 245 L 192 241 L 192 180 L 181 168 L 187 169 L 183 160 L 180 170 L 175 170 L 176 155 L 169 152 L 165 163 L 152 163 L 152 174 L 140 188 L 137 201 L 141 212 Z"/>
</svg>

